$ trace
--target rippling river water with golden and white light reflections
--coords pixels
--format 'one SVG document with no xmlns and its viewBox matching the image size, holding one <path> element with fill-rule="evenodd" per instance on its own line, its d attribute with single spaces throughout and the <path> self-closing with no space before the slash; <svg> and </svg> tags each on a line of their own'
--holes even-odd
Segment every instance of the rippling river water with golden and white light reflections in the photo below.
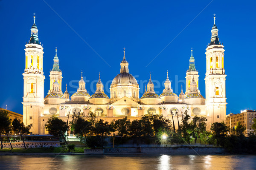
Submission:
<svg viewBox="0 0 256 170">
<path fill-rule="evenodd" d="M 0 170 L 251 170 L 256 156 L 61 155 L 0 156 Z"/>
</svg>

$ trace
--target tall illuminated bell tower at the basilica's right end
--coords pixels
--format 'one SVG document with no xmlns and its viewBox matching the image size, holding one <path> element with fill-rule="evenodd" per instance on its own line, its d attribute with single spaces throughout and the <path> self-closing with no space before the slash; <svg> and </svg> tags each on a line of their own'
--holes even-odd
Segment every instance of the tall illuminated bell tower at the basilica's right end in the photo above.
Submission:
<svg viewBox="0 0 256 170">
<path fill-rule="evenodd" d="M 211 42 L 206 48 L 206 114 L 210 124 L 226 121 L 226 74 L 224 69 L 224 46 L 218 38 L 218 28 L 212 27 Z"/>
</svg>

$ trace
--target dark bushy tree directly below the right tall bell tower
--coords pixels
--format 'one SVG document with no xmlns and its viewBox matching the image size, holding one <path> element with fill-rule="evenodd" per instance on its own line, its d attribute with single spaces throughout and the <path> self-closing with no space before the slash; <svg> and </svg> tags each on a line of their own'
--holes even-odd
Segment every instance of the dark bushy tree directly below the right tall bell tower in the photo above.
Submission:
<svg viewBox="0 0 256 170">
<path fill-rule="evenodd" d="M 216 144 L 224 144 L 224 138 L 227 136 L 227 132 L 230 128 L 224 122 L 215 122 L 212 124 L 211 130 L 213 131 L 212 135 L 217 140 Z"/>
</svg>

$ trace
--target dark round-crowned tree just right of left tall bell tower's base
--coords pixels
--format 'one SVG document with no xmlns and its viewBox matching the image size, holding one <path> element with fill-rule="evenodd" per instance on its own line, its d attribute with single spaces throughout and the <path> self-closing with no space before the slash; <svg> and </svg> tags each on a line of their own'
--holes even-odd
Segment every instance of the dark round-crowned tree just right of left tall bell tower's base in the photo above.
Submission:
<svg viewBox="0 0 256 170">
<path fill-rule="evenodd" d="M 63 137 L 65 143 L 67 144 L 64 134 L 67 130 L 69 130 L 69 126 L 67 126 L 66 122 L 53 115 L 46 122 L 45 128 L 49 132 L 49 134 L 55 137 Z"/>
</svg>

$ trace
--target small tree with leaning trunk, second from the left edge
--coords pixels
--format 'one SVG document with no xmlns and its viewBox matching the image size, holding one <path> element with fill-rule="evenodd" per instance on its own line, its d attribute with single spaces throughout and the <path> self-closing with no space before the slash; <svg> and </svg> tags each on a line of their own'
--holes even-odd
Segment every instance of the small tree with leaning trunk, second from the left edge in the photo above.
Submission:
<svg viewBox="0 0 256 170">
<path fill-rule="evenodd" d="M 13 127 L 13 131 L 20 135 L 20 138 L 22 139 L 24 147 L 26 149 L 26 144 L 24 142 L 24 138 L 22 135 L 27 135 L 30 133 L 30 128 L 31 128 L 30 125 L 25 126 L 23 122 L 20 122 L 20 119 L 15 118 L 12 121 L 12 127 Z"/>
</svg>

